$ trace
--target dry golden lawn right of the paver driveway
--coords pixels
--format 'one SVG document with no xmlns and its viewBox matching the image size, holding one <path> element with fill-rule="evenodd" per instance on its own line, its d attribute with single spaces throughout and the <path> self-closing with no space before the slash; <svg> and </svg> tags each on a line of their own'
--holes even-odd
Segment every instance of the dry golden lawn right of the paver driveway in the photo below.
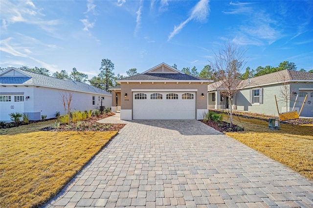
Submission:
<svg viewBox="0 0 313 208">
<path fill-rule="evenodd" d="M 313 180 L 313 124 L 280 124 L 280 130 L 270 130 L 267 121 L 239 119 L 233 117 L 233 123 L 245 132 L 226 132 L 228 136 Z"/>
</svg>

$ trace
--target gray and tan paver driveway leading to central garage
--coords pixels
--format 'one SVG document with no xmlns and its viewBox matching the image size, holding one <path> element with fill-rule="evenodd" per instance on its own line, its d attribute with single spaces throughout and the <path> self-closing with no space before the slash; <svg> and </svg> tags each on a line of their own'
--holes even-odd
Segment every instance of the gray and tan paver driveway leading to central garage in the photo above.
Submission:
<svg viewBox="0 0 313 208">
<path fill-rule="evenodd" d="M 201 122 L 102 122 L 127 125 L 45 207 L 313 207 L 311 181 Z"/>
</svg>

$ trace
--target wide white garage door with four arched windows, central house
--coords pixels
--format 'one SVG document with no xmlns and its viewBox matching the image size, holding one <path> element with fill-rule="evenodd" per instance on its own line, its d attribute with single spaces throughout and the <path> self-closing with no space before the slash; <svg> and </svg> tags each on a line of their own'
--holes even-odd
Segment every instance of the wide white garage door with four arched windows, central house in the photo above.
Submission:
<svg viewBox="0 0 313 208">
<path fill-rule="evenodd" d="M 195 118 L 195 92 L 133 92 L 133 119 Z"/>
</svg>

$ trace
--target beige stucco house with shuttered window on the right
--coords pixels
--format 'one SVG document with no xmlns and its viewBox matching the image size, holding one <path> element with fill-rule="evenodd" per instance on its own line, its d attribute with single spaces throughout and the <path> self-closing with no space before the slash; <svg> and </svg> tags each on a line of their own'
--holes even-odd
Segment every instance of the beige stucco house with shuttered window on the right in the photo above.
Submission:
<svg viewBox="0 0 313 208">
<path fill-rule="evenodd" d="M 278 116 L 275 95 L 280 113 L 292 110 L 296 95 L 298 99 L 294 110 L 299 112 L 305 96 L 308 95 L 301 116 L 313 116 L 313 73 L 282 70 L 243 82 L 246 82 L 245 87 L 232 98 L 233 109 Z M 286 94 L 291 97 L 287 106 L 286 96 L 282 94 L 286 89 Z M 208 85 L 208 108 L 228 108 L 227 100 L 227 97 L 220 95 L 216 84 Z"/>
</svg>

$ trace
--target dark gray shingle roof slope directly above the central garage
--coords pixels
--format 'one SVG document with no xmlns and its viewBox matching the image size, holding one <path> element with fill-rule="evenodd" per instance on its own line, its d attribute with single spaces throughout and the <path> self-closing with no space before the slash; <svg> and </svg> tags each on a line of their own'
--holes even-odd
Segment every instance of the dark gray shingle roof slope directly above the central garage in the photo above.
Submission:
<svg viewBox="0 0 313 208">
<path fill-rule="evenodd" d="M 144 80 L 194 80 L 194 81 L 205 81 L 206 79 L 203 79 L 201 77 L 196 77 L 188 74 L 179 74 L 179 73 L 147 73 L 147 74 L 138 74 L 131 77 L 126 77 L 124 79 L 119 80 L 122 81 L 144 81 Z"/>
</svg>

